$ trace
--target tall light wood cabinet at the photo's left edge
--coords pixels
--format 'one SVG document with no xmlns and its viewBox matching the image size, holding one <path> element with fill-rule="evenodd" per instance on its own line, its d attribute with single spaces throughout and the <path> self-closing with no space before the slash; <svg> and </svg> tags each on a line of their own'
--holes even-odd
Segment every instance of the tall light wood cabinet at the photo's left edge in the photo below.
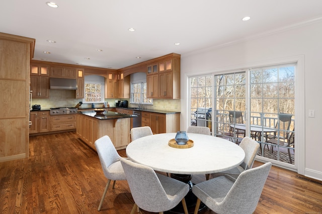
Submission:
<svg viewBox="0 0 322 214">
<path fill-rule="evenodd" d="M 29 73 L 35 40 L 0 33 L 0 162 L 29 156 Z"/>
</svg>

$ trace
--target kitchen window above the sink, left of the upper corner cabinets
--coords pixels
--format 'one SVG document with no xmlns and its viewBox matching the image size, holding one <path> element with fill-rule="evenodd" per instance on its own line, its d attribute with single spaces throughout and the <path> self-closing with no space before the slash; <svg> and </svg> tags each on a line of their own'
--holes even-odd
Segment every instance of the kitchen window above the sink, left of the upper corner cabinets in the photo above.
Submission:
<svg viewBox="0 0 322 214">
<path fill-rule="evenodd" d="M 146 82 L 131 82 L 131 103 L 153 104 L 153 99 L 146 98 Z"/>
</svg>

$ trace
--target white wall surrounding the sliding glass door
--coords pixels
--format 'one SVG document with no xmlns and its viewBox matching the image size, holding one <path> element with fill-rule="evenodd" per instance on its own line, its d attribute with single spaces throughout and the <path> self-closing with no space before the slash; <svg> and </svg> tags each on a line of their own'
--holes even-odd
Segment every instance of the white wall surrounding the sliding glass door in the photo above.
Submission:
<svg viewBox="0 0 322 214">
<path fill-rule="evenodd" d="M 278 61 L 285 58 L 301 58 L 304 78 L 302 88 L 303 111 L 299 112 L 302 142 L 298 172 L 322 180 L 322 22 L 310 23 L 296 28 L 271 33 L 252 40 L 221 48 L 207 49 L 181 55 L 181 106 L 188 106 L 187 76 L 215 71 L 243 68 L 249 65 Z M 200 38 L 202 39 L 202 38 Z M 300 81 L 301 81 L 300 80 Z M 315 117 L 308 118 L 308 110 L 315 110 Z M 299 117 L 300 118 L 300 117 Z M 181 129 L 189 124 L 188 107 L 181 109 Z M 299 149 L 299 148 L 298 148 Z M 304 151 L 303 151 L 304 150 Z"/>
</svg>

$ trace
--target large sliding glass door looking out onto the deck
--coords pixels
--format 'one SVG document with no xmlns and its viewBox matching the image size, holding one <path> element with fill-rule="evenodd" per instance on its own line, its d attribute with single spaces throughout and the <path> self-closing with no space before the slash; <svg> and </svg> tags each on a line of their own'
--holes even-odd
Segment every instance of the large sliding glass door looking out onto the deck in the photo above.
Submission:
<svg viewBox="0 0 322 214">
<path fill-rule="evenodd" d="M 294 165 L 296 64 L 190 77 L 191 126 L 236 144 L 249 136 L 258 155 Z"/>
</svg>

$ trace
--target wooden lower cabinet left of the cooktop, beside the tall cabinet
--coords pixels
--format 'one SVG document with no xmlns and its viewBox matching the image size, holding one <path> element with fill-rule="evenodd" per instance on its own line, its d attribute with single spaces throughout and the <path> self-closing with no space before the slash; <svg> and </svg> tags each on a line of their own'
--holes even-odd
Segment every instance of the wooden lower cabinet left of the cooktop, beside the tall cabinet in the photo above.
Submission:
<svg viewBox="0 0 322 214">
<path fill-rule="evenodd" d="M 49 132 L 49 111 L 30 112 L 29 134 Z"/>
</svg>

